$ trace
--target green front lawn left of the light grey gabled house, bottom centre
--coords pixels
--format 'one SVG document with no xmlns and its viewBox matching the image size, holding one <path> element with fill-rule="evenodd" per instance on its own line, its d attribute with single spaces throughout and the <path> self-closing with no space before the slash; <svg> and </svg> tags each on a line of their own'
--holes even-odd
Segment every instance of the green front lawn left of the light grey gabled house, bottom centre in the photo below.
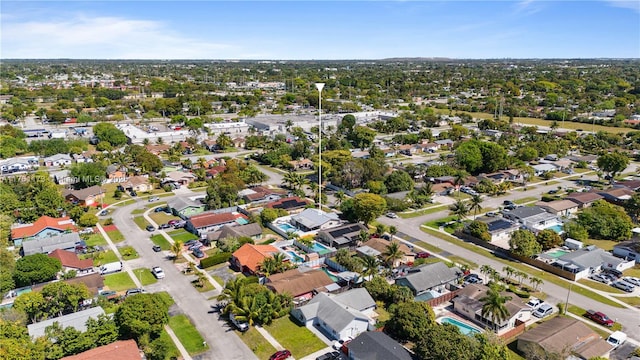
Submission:
<svg viewBox="0 0 640 360">
<path fill-rule="evenodd" d="M 264 327 L 296 359 L 314 353 L 327 345 L 309 329 L 292 321 L 289 316 L 276 319 Z"/>
</svg>

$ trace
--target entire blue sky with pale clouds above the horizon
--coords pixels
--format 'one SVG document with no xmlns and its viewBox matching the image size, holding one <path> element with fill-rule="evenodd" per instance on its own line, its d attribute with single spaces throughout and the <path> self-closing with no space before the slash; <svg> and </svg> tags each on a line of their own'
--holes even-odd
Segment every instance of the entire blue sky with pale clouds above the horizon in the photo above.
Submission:
<svg viewBox="0 0 640 360">
<path fill-rule="evenodd" d="M 640 0 L 6 1 L 0 59 L 640 58 Z"/>
</svg>

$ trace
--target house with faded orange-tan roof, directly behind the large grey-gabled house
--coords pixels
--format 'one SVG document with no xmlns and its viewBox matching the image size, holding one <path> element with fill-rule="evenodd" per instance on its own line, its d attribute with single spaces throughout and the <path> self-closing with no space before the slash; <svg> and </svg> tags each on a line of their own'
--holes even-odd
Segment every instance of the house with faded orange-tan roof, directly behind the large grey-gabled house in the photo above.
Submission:
<svg viewBox="0 0 640 360">
<path fill-rule="evenodd" d="M 265 286 L 277 294 L 289 294 L 294 301 L 300 301 L 309 300 L 315 294 L 334 289 L 337 285 L 321 269 L 299 267 L 269 276 Z"/>
</svg>

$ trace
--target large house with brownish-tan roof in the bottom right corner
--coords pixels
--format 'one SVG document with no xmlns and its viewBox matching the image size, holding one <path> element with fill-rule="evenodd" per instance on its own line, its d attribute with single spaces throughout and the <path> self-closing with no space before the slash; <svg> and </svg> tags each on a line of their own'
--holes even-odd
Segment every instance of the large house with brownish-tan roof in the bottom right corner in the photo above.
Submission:
<svg viewBox="0 0 640 360">
<path fill-rule="evenodd" d="M 609 358 L 612 346 L 582 321 L 554 317 L 518 337 L 517 348 L 527 358 Z"/>
</svg>

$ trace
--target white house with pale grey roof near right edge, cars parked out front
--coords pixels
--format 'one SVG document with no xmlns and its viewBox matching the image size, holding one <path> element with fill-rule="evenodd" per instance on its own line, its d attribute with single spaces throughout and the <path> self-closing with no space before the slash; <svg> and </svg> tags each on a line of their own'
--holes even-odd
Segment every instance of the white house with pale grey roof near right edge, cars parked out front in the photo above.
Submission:
<svg viewBox="0 0 640 360">
<path fill-rule="evenodd" d="M 595 245 L 566 253 L 552 263 L 553 266 L 576 274 L 576 279 L 586 278 L 602 269 L 623 271 L 633 267 L 635 261 L 615 257 Z"/>
</svg>

